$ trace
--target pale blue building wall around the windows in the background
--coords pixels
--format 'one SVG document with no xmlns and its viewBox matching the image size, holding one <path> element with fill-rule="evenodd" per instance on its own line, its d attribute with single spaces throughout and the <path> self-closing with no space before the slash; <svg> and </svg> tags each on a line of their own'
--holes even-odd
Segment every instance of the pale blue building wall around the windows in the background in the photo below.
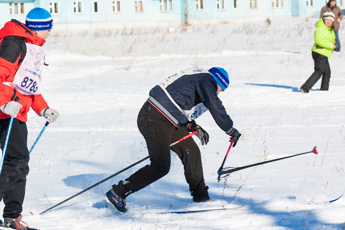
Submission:
<svg viewBox="0 0 345 230">
<path fill-rule="evenodd" d="M 185 0 L 172 0 L 172 11 L 160 11 L 159 0 L 142 0 L 143 12 L 135 11 L 135 0 L 121 0 L 121 11 L 112 11 L 112 1 L 98 0 L 98 12 L 93 12 L 94 0 L 81 0 L 82 13 L 73 12 L 71 0 L 55 0 L 59 2 L 59 13 L 52 14 L 55 24 L 71 23 L 123 23 L 131 22 L 133 25 L 144 25 L 152 22 L 174 21 L 183 24 L 185 20 Z M 284 0 L 284 6 L 273 8 L 271 0 L 256 0 L 257 8 L 251 9 L 249 0 L 224 0 L 225 9 L 217 9 L 217 0 L 204 0 L 204 9 L 196 9 L 196 0 L 186 0 L 188 22 L 213 20 L 215 23 L 254 18 L 272 18 L 288 16 L 316 16 L 325 5 L 325 0 L 313 0 L 313 6 L 306 6 L 306 0 Z M 345 1 L 345 0 L 343 0 Z M 0 25 L 14 19 L 22 19 L 34 7 L 42 7 L 49 11 L 51 0 L 0 0 Z M 9 3 L 24 3 L 24 14 L 10 15 Z M 340 3 L 340 0 L 337 1 Z M 339 4 L 338 4 L 339 5 Z M 344 9 L 343 6 L 339 6 Z"/>
</svg>

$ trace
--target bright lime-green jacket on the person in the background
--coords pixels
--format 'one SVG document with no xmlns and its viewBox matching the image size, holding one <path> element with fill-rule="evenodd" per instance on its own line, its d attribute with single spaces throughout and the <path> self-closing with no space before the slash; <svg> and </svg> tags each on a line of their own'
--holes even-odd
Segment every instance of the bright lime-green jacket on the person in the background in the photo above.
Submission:
<svg viewBox="0 0 345 230">
<path fill-rule="evenodd" d="M 335 44 L 335 34 L 331 27 L 326 26 L 322 18 L 315 24 L 315 43 L 312 51 L 330 58 Z"/>
</svg>

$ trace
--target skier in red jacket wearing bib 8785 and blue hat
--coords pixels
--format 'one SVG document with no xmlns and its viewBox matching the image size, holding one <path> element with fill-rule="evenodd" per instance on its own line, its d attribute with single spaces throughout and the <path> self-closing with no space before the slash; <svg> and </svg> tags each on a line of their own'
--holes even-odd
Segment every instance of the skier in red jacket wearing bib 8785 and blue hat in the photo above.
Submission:
<svg viewBox="0 0 345 230">
<path fill-rule="evenodd" d="M 38 116 L 54 122 L 59 117 L 40 94 L 39 79 L 45 66 L 42 48 L 50 35 L 53 19 L 42 8 L 32 9 L 25 24 L 12 19 L 0 29 L 0 146 L 4 147 L 10 118 L 12 128 L 0 174 L 0 201 L 4 221 L 0 226 L 18 230 L 35 230 L 21 219 L 26 176 L 29 173 L 27 147 L 27 112 L 30 107 Z"/>
</svg>

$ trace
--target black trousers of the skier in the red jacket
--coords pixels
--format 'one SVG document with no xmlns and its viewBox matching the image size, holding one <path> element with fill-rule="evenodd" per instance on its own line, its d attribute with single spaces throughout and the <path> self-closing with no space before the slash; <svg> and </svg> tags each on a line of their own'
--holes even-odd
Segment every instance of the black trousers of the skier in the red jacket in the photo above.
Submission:
<svg viewBox="0 0 345 230">
<path fill-rule="evenodd" d="M 10 118 L 0 119 L 0 146 L 4 147 Z M 25 196 L 26 176 L 29 173 L 28 129 L 25 122 L 13 119 L 0 175 L 0 201 L 5 208 L 3 217 L 16 219 L 20 216 Z"/>
</svg>

